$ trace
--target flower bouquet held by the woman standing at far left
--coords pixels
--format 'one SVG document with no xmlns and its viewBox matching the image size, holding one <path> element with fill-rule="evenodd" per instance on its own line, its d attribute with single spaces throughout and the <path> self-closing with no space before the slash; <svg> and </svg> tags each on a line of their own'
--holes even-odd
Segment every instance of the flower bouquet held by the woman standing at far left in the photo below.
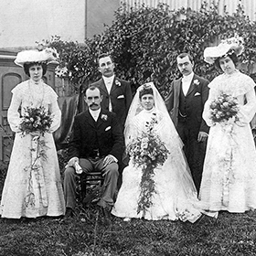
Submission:
<svg viewBox="0 0 256 256">
<path fill-rule="evenodd" d="M 51 115 L 41 106 L 38 108 L 26 107 L 19 125 L 23 135 L 28 133 L 47 133 L 52 123 Z"/>
</svg>

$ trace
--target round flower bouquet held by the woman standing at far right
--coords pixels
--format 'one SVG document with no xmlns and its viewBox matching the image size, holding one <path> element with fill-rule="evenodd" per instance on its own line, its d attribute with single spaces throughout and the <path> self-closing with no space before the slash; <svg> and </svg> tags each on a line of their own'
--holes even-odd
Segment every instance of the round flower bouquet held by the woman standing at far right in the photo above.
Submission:
<svg viewBox="0 0 256 256">
<path fill-rule="evenodd" d="M 221 92 L 219 97 L 212 101 L 210 119 L 214 123 L 227 123 L 230 119 L 238 120 L 239 104 L 237 98 Z"/>
</svg>

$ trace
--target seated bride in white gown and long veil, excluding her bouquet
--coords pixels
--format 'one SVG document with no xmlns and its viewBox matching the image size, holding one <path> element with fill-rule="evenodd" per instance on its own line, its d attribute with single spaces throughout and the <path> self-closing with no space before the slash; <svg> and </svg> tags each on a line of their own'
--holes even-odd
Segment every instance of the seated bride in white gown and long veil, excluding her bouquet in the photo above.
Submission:
<svg viewBox="0 0 256 256">
<path fill-rule="evenodd" d="M 201 215 L 194 207 L 197 202 L 197 189 L 193 183 L 187 161 L 182 151 L 182 142 L 176 133 L 160 93 L 155 85 L 147 83 L 136 92 L 125 123 L 125 144 L 147 133 L 148 124 L 155 120 L 155 134 L 165 143 L 169 151 L 164 165 L 154 169 L 155 192 L 151 194 L 150 204 L 139 210 L 142 192 L 142 166 L 129 165 L 123 170 L 123 184 L 112 208 L 112 214 L 130 220 L 144 219 L 181 219 L 195 222 Z"/>
</svg>

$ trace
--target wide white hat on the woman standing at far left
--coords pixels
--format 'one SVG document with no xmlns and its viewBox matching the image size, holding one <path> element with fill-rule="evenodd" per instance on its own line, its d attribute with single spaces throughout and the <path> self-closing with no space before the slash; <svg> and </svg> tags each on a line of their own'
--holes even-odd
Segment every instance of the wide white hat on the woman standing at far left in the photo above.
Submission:
<svg viewBox="0 0 256 256">
<path fill-rule="evenodd" d="M 43 50 L 29 49 L 23 50 L 16 55 L 15 63 L 23 67 L 25 63 L 57 61 L 59 54 L 55 48 L 45 48 Z"/>
</svg>

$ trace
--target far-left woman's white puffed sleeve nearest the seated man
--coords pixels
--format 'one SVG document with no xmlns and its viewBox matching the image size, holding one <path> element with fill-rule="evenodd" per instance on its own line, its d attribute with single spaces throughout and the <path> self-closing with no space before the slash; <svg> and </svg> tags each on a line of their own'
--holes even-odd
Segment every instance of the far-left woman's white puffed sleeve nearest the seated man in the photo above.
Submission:
<svg viewBox="0 0 256 256">
<path fill-rule="evenodd" d="M 50 92 L 50 106 L 49 106 L 49 109 L 50 109 L 53 121 L 52 121 L 51 127 L 49 129 L 50 133 L 55 132 L 59 128 L 59 125 L 60 125 L 60 122 L 61 122 L 61 111 L 59 109 L 59 104 L 58 104 L 57 99 L 58 99 L 57 93 L 52 90 Z"/>
</svg>

